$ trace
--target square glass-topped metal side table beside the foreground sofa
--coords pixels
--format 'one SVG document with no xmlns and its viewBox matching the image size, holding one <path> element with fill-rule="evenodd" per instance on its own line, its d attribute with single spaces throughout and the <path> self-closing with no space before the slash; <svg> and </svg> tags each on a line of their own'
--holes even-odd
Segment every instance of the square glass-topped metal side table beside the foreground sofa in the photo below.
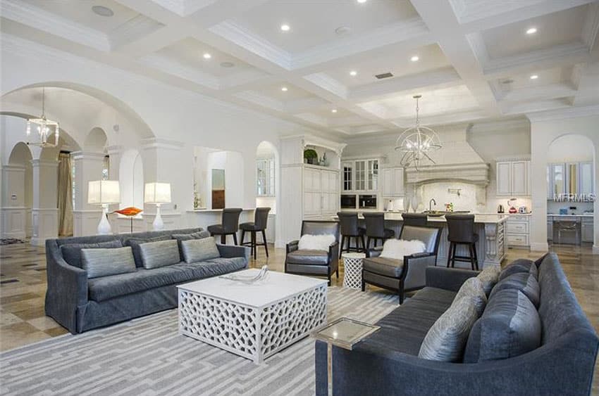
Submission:
<svg viewBox="0 0 599 396">
<path fill-rule="evenodd" d="M 316 340 L 324 341 L 326 347 L 326 366 L 328 395 L 333 395 L 333 345 L 352 350 L 352 347 L 381 328 L 349 318 L 341 318 L 328 324 L 313 334 Z"/>
</svg>

